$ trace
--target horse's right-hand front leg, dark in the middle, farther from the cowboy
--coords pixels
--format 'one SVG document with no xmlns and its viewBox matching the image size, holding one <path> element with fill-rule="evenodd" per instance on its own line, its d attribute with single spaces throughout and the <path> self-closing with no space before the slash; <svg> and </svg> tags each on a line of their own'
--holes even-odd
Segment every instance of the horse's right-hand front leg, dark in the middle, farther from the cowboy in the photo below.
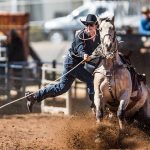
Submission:
<svg viewBox="0 0 150 150">
<path fill-rule="evenodd" d="M 126 109 L 127 105 L 129 104 L 130 92 L 128 90 L 123 91 L 119 100 L 120 100 L 120 104 L 119 104 L 118 111 L 117 111 L 117 117 L 119 119 L 120 129 L 123 129 L 123 121 L 125 118 L 125 109 Z"/>
</svg>

